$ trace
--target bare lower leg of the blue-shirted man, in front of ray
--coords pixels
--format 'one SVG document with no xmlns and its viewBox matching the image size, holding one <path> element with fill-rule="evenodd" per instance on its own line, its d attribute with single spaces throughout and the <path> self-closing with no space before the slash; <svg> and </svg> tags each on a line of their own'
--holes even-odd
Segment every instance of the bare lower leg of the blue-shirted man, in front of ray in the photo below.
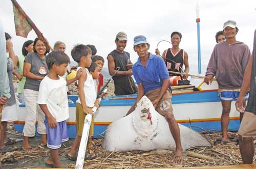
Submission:
<svg viewBox="0 0 256 169">
<path fill-rule="evenodd" d="M 164 118 L 169 125 L 170 133 L 172 133 L 172 135 L 174 137 L 175 144 L 176 144 L 175 158 L 172 161 L 173 162 L 181 162 L 183 149 L 182 149 L 181 141 L 180 141 L 180 128 L 174 118 L 174 115 L 166 114 L 164 116 Z"/>
</svg>

